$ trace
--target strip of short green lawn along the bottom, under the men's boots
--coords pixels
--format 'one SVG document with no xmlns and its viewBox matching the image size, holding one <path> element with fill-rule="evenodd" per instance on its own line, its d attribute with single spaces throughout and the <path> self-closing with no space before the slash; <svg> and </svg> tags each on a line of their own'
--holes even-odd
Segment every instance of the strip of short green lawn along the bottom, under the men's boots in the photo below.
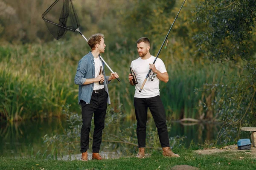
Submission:
<svg viewBox="0 0 256 170">
<path fill-rule="evenodd" d="M 42 160 L 33 158 L 0 157 L 0 169 L 22 170 L 169 170 L 175 165 L 190 165 L 203 170 L 252 170 L 256 168 L 255 158 L 246 153 L 215 153 L 201 155 L 192 150 L 175 150 L 180 158 L 166 158 L 155 152 L 144 159 L 134 156 L 88 162 Z"/>
</svg>

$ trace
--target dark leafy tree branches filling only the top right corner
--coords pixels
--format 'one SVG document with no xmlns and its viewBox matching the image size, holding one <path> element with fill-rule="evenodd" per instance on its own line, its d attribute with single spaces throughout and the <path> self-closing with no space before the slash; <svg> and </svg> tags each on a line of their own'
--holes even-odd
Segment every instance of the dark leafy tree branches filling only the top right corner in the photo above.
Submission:
<svg viewBox="0 0 256 170">
<path fill-rule="evenodd" d="M 202 29 L 194 36 L 198 51 L 212 60 L 252 57 L 255 45 L 255 0 L 204 0 L 194 22 Z M 255 34 L 254 34 L 255 35 Z"/>
</svg>

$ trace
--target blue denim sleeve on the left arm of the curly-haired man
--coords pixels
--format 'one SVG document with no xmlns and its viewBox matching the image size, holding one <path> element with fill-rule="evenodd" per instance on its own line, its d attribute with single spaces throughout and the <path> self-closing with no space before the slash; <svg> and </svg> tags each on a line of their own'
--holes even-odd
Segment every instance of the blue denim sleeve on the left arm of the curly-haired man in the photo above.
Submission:
<svg viewBox="0 0 256 170">
<path fill-rule="evenodd" d="M 75 84 L 76 85 L 83 85 L 86 81 L 86 78 L 84 78 L 84 75 L 87 72 L 87 64 L 84 61 L 84 59 L 81 59 L 78 63 L 78 67 L 76 70 L 76 76 L 75 76 Z"/>
</svg>

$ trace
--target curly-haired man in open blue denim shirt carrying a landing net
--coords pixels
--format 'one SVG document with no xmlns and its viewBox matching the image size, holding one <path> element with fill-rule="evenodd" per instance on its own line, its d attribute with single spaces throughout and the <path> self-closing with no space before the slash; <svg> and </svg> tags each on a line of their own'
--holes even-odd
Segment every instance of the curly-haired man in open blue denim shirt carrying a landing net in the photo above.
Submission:
<svg viewBox="0 0 256 170">
<path fill-rule="evenodd" d="M 75 77 L 75 84 L 79 85 L 78 103 L 82 108 L 83 125 L 81 128 L 81 160 L 87 161 L 89 148 L 89 133 L 91 120 L 94 113 L 93 132 L 93 156 L 92 159 L 102 160 L 99 155 L 100 144 L 102 143 L 102 130 L 105 127 L 105 116 L 107 102 L 110 104 L 108 94 L 108 84 L 112 79 L 118 78 L 117 73 L 105 76 L 100 73 L 100 68 L 104 68 L 104 62 L 99 58 L 100 53 L 105 51 L 104 35 L 93 34 L 88 39 L 88 45 L 92 49 L 87 55 L 80 59 Z M 99 83 L 99 82 L 103 82 Z"/>
</svg>

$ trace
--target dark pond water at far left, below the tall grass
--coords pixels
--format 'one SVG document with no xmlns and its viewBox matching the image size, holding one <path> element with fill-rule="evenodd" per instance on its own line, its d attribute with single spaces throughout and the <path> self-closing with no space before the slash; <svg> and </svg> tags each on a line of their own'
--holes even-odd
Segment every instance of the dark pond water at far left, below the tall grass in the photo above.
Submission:
<svg viewBox="0 0 256 170">
<path fill-rule="evenodd" d="M 38 150 L 44 153 L 42 136 L 61 133 L 66 125 L 59 119 L 0 123 L 0 155 L 29 156 Z"/>
</svg>

